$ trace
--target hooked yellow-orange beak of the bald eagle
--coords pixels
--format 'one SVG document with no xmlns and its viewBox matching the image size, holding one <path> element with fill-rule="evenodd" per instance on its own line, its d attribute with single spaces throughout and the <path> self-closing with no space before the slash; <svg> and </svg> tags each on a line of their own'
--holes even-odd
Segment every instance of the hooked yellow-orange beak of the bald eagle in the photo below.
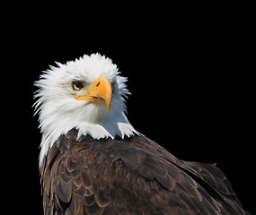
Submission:
<svg viewBox="0 0 256 215">
<path fill-rule="evenodd" d="M 91 104 L 98 100 L 105 100 L 108 112 L 110 111 L 110 105 L 112 100 L 112 88 L 108 79 L 105 77 L 99 77 L 93 83 L 93 92 L 84 96 L 76 97 L 75 100 L 90 99 L 88 104 Z"/>
</svg>

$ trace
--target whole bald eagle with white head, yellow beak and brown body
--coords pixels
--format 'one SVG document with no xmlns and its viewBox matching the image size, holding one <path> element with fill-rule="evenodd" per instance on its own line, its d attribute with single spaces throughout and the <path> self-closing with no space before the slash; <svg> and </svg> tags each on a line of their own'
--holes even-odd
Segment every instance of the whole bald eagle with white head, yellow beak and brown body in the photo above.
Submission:
<svg viewBox="0 0 256 215">
<path fill-rule="evenodd" d="M 45 214 L 248 214 L 215 164 L 177 159 L 130 125 L 110 58 L 56 64 L 35 82 Z"/>
</svg>

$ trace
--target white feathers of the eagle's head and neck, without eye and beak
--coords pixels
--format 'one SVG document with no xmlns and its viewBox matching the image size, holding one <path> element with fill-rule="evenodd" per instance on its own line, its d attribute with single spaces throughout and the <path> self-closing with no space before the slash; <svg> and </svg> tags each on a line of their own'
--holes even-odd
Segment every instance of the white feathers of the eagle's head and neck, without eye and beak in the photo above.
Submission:
<svg viewBox="0 0 256 215">
<path fill-rule="evenodd" d="M 40 75 L 40 81 L 35 82 L 40 88 L 34 104 L 36 114 L 40 114 L 42 133 L 40 165 L 57 138 L 74 127 L 79 131 L 77 138 L 82 134 L 90 134 L 95 139 L 115 138 L 116 135 L 123 138 L 137 133 L 125 116 L 124 97 L 130 94 L 126 88 L 127 78 L 119 76 L 117 65 L 112 64 L 110 58 L 100 54 L 84 55 L 66 64 L 57 63 L 57 66 L 50 66 L 50 70 Z M 102 102 L 76 100 L 78 92 L 70 87 L 74 81 L 89 84 L 101 76 L 107 78 L 112 87 L 109 113 Z"/>
</svg>

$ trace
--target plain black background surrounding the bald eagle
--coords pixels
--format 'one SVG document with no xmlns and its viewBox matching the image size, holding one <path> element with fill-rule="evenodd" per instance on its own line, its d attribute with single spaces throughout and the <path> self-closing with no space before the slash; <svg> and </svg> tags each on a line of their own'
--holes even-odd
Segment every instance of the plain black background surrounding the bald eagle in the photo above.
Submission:
<svg viewBox="0 0 256 215">
<path fill-rule="evenodd" d="M 137 131 L 179 159 L 216 162 L 256 212 L 250 13 L 140 16 L 138 9 L 126 19 L 72 20 L 65 12 L 54 16 L 49 7 L 4 22 L 0 213 L 42 213 L 33 82 L 55 61 L 96 52 L 128 77 L 128 119 Z"/>
</svg>

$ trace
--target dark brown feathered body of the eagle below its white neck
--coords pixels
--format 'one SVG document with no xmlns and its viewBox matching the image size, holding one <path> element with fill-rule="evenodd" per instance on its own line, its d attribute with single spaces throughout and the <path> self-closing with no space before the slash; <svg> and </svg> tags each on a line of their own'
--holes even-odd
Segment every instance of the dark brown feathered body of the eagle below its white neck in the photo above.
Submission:
<svg viewBox="0 0 256 215">
<path fill-rule="evenodd" d="M 177 159 L 143 135 L 76 138 L 61 135 L 43 160 L 45 214 L 248 214 L 215 164 Z"/>
</svg>

